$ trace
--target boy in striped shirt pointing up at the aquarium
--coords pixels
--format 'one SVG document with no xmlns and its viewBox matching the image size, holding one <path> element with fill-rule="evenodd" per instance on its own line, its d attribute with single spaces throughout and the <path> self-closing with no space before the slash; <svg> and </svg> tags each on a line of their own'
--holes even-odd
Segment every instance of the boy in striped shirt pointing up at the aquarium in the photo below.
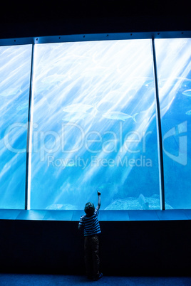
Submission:
<svg viewBox="0 0 191 286">
<path fill-rule="evenodd" d="M 99 280 L 103 274 L 99 272 L 100 259 L 98 255 L 100 223 L 98 213 L 100 209 L 100 192 L 98 191 L 98 206 L 95 210 L 93 203 L 86 203 L 84 211 L 86 215 L 81 216 L 78 229 L 84 234 L 84 253 L 86 272 L 89 279 Z"/>
</svg>

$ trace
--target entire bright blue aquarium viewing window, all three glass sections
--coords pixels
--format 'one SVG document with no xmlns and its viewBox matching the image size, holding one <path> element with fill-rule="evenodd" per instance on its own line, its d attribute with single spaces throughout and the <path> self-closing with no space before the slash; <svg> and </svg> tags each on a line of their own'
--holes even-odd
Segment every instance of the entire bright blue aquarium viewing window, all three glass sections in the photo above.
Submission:
<svg viewBox="0 0 191 286">
<path fill-rule="evenodd" d="M 0 47 L 0 208 L 191 208 L 191 39 Z"/>
</svg>

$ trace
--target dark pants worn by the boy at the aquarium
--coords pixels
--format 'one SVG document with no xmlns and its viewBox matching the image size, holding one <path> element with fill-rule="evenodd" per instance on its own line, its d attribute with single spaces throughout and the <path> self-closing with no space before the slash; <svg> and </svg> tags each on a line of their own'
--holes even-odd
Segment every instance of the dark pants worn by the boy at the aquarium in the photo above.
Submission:
<svg viewBox="0 0 191 286">
<path fill-rule="evenodd" d="M 84 252 L 86 274 L 88 277 L 96 277 L 99 275 L 99 239 L 98 235 L 85 236 L 84 239 Z"/>
</svg>

